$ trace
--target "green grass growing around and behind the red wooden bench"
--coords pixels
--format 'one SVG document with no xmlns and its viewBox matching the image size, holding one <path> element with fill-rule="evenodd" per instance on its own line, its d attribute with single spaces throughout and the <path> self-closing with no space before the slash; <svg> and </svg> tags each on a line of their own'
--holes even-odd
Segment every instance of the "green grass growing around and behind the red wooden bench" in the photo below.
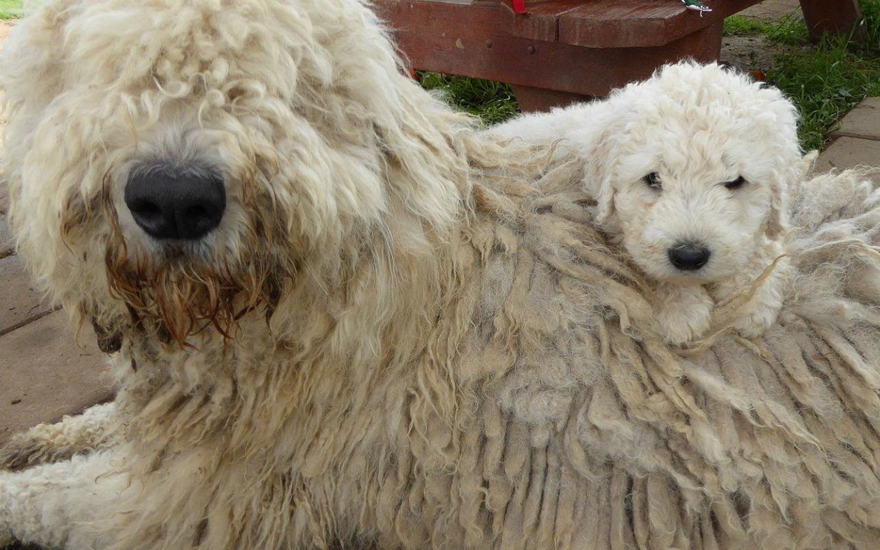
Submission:
<svg viewBox="0 0 880 550">
<path fill-rule="evenodd" d="M 863 26 L 868 40 L 856 44 L 846 38 L 826 37 L 815 48 L 797 12 L 776 23 L 733 16 L 724 21 L 729 36 L 763 36 L 773 44 L 790 46 L 767 71 L 802 114 L 799 128 L 805 150 L 822 149 L 825 134 L 862 99 L 880 96 L 880 0 L 862 0 Z M 446 99 L 488 123 L 504 121 L 519 108 L 505 84 L 422 73 L 422 85 L 439 90 Z"/>
</svg>

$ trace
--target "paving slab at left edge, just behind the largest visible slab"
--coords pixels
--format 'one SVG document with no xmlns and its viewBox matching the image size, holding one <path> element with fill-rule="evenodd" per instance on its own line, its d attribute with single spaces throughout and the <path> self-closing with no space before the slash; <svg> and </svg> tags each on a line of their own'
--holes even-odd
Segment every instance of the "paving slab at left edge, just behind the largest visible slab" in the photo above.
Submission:
<svg viewBox="0 0 880 550">
<path fill-rule="evenodd" d="M 42 293 L 34 288 L 21 256 L 0 260 L 0 281 L 0 334 L 50 311 Z"/>
</svg>

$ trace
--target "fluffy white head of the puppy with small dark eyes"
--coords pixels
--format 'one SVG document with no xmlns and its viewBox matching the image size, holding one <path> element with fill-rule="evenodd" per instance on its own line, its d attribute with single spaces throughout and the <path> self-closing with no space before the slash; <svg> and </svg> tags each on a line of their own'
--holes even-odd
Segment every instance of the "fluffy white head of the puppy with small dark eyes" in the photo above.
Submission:
<svg viewBox="0 0 880 550">
<path fill-rule="evenodd" d="M 686 62 L 609 106 L 587 186 L 598 222 L 648 275 L 715 282 L 781 238 L 787 187 L 802 168 L 796 109 L 779 91 Z"/>
</svg>

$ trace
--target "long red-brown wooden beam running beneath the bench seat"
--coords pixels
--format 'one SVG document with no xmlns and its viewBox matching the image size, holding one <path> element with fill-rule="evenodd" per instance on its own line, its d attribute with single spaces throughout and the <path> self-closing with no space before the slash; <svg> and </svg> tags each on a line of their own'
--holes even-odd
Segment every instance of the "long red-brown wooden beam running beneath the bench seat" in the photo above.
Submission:
<svg viewBox="0 0 880 550">
<path fill-rule="evenodd" d="M 497 3 L 470 5 L 465 12 L 460 5 L 416 0 L 375 5 L 417 69 L 583 95 L 605 95 L 649 77 L 665 62 L 714 60 L 721 48 L 720 25 L 663 48 L 598 49 L 513 36 Z"/>
</svg>

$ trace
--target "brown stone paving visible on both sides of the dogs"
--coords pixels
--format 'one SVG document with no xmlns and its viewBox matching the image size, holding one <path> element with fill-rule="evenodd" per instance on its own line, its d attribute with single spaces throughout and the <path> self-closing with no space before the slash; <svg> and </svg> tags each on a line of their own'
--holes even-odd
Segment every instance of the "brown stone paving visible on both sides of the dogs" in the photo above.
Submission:
<svg viewBox="0 0 880 550">
<path fill-rule="evenodd" d="M 777 17 L 796 0 L 768 0 L 761 7 Z M 775 11 L 774 11 L 775 10 Z M 0 25 L 0 37 L 6 29 Z M 832 145 L 817 170 L 880 165 L 880 98 L 866 99 L 832 133 Z M 13 252 L 6 227 L 7 191 L 0 184 L 0 444 L 12 433 L 62 414 L 77 414 L 112 392 L 102 377 L 105 359 L 91 326 L 79 345 L 63 312 L 54 312 L 33 290 L 21 258 Z"/>
</svg>

